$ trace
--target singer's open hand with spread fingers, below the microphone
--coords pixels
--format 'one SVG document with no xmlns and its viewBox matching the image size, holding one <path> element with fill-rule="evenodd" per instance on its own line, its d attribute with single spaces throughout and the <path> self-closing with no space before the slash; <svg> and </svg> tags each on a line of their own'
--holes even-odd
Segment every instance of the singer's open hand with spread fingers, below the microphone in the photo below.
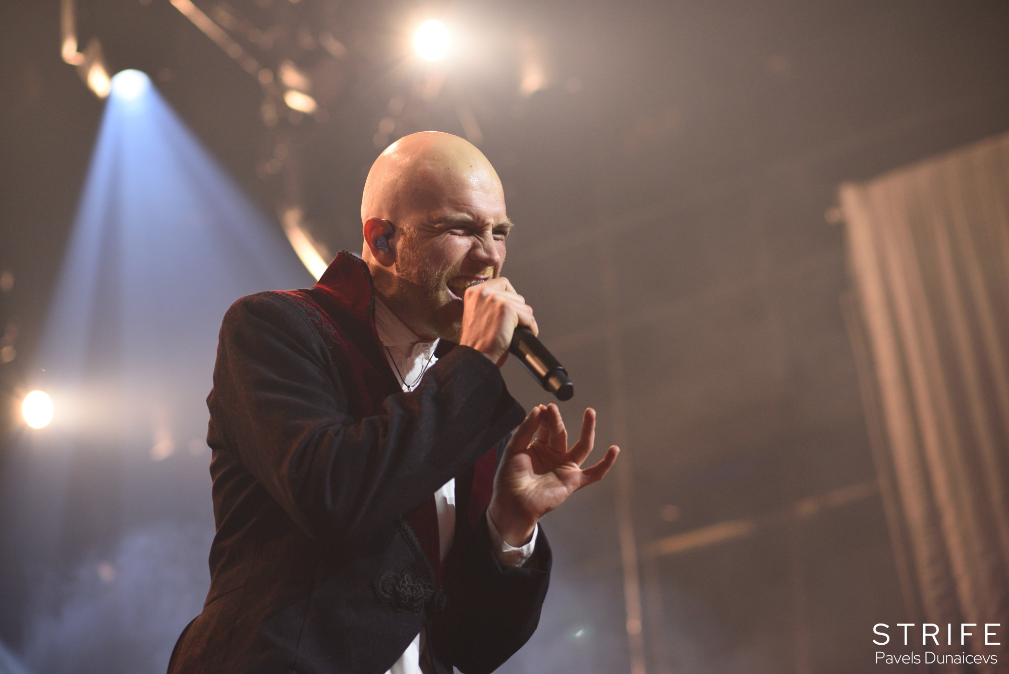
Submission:
<svg viewBox="0 0 1009 674">
<path fill-rule="evenodd" d="M 507 543 L 525 545 L 540 518 L 581 487 L 602 479 L 621 450 L 610 447 L 598 463 L 582 470 L 594 443 L 595 411 L 591 408 L 585 410 L 578 441 L 570 450 L 556 405 L 541 405 L 529 413 L 504 449 L 488 509 Z"/>
</svg>

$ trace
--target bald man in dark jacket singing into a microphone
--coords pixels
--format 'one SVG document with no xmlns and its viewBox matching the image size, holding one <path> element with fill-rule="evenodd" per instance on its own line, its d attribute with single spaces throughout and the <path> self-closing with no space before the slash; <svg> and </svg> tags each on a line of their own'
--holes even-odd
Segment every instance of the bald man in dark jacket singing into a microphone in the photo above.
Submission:
<svg viewBox="0 0 1009 674">
<path fill-rule="evenodd" d="M 211 586 L 176 673 L 491 672 L 533 634 L 539 526 L 590 468 L 555 405 L 499 367 L 533 310 L 500 275 L 513 224 L 486 157 L 406 136 L 371 166 L 361 256 L 311 289 L 241 298 L 207 399 Z"/>
</svg>

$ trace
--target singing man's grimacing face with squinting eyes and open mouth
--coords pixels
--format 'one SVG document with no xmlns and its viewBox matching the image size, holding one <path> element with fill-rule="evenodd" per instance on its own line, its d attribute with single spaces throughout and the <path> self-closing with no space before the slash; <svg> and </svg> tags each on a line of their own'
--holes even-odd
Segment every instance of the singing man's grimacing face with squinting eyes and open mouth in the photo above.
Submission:
<svg viewBox="0 0 1009 674">
<path fill-rule="evenodd" d="M 458 341 L 465 289 L 500 275 L 512 222 L 496 177 L 452 183 L 396 223 L 397 295 L 425 332 Z"/>
</svg>

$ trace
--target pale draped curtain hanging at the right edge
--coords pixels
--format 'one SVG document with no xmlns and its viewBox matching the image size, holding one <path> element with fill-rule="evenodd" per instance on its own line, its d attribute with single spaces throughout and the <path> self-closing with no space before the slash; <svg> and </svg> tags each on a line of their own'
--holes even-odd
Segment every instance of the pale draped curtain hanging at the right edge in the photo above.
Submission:
<svg viewBox="0 0 1009 674">
<path fill-rule="evenodd" d="M 998 654 L 998 665 L 962 671 L 1004 672 L 1009 134 L 844 185 L 840 206 L 869 416 L 880 420 L 881 481 L 912 614 L 940 626 L 935 653 Z M 979 625 L 963 648 L 961 623 Z M 1001 624 L 1001 646 L 984 646 L 986 623 Z M 920 626 L 915 633 L 921 649 Z"/>
</svg>

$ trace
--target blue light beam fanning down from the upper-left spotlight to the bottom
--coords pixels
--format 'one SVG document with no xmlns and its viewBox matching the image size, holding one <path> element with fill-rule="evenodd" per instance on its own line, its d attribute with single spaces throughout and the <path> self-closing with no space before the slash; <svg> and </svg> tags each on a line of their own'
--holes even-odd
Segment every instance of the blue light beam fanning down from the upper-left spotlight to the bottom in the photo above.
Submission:
<svg viewBox="0 0 1009 674">
<path fill-rule="evenodd" d="M 213 528 L 205 399 L 221 318 L 240 296 L 313 283 L 147 76 L 111 87 L 26 382 L 55 414 L 6 457 L 0 492 L 0 590 L 23 598 L 36 671 L 163 671 L 206 591 L 191 585 L 209 581 L 206 538 L 187 532 Z M 166 549 L 165 527 L 202 542 Z M 191 591 L 152 582 L 191 577 Z"/>
</svg>

